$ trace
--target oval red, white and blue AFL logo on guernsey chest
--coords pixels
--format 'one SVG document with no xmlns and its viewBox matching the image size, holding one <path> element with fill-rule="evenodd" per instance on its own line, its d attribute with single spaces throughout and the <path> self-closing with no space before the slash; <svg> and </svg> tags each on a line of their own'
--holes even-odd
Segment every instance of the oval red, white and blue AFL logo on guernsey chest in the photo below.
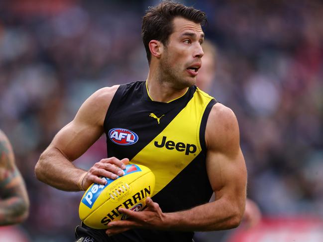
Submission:
<svg viewBox="0 0 323 242">
<path fill-rule="evenodd" d="M 110 140 L 121 146 L 133 145 L 138 141 L 138 135 L 128 129 L 114 128 L 109 131 Z"/>
</svg>

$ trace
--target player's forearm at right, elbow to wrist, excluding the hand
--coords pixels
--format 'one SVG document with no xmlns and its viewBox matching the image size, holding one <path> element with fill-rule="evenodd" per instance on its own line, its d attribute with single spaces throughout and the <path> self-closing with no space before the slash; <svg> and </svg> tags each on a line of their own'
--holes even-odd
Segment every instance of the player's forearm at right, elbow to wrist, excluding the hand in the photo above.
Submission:
<svg viewBox="0 0 323 242">
<path fill-rule="evenodd" d="M 219 199 L 189 210 L 165 213 L 167 230 L 216 231 L 236 228 L 242 219 L 243 205 Z"/>
</svg>

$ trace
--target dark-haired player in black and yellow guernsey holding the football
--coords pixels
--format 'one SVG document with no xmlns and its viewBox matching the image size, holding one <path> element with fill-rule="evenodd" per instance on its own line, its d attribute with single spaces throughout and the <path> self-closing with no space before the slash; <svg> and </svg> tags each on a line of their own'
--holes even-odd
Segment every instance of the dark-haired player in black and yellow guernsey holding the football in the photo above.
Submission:
<svg viewBox="0 0 323 242">
<path fill-rule="evenodd" d="M 129 161 L 148 166 L 156 184 L 140 212 L 95 230 L 82 223 L 77 241 L 192 242 L 194 231 L 237 227 L 246 199 L 246 167 L 233 112 L 194 84 L 201 67 L 206 14 L 163 1 L 143 17 L 146 81 L 106 87 L 90 96 L 40 156 L 38 179 L 77 191 L 115 179 Z M 71 161 L 101 135 L 108 158 L 88 171 Z M 215 201 L 208 203 L 215 192 Z"/>
</svg>

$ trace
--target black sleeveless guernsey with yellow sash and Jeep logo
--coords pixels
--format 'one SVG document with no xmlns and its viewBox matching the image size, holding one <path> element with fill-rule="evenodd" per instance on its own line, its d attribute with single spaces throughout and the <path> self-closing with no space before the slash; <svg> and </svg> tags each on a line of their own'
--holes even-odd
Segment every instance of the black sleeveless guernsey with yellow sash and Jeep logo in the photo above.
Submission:
<svg viewBox="0 0 323 242">
<path fill-rule="evenodd" d="M 153 101 L 145 81 L 122 84 L 108 108 L 108 157 L 128 158 L 156 177 L 152 195 L 163 212 L 207 203 L 213 193 L 206 170 L 206 123 L 215 99 L 196 86 L 168 103 Z M 130 230 L 116 242 L 192 242 L 192 232 Z"/>
</svg>

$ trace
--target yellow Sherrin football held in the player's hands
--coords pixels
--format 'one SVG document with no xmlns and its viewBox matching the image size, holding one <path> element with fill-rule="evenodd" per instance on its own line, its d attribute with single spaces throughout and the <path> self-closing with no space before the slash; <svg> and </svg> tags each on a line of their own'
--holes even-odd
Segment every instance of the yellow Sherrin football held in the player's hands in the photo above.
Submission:
<svg viewBox="0 0 323 242">
<path fill-rule="evenodd" d="M 84 193 L 79 207 L 80 219 L 94 229 L 106 229 L 109 222 L 126 217 L 118 208 L 140 211 L 152 196 L 155 175 L 144 165 L 127 164 L 124 175 L 107 180 L 106 185 L 93 183 Z"/>
</svg>

